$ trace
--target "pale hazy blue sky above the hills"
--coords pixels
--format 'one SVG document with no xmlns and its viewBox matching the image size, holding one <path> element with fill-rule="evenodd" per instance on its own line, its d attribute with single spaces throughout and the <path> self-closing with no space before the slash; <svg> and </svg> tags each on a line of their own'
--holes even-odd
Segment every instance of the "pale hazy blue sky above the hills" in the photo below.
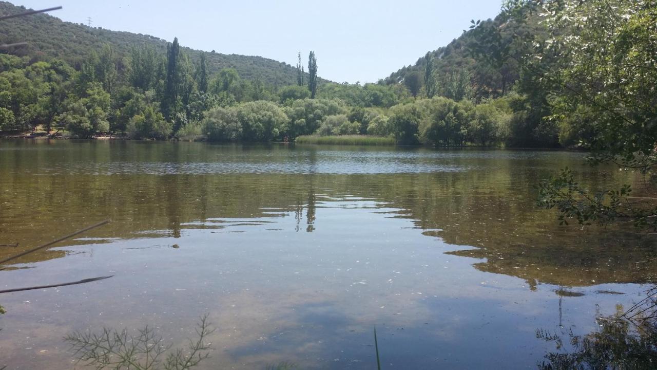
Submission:
<svg viewBox="0 0 657 370">
<path fill-rule="evenodd" d="M 315 51 L 319 75 L 376 82 L 447 45 L 470 19 L 493 18 L 501 0 L 14 0 L 63 20 L 149 34 L 218 53 L 260 55 L 296 65 Z"/>
</svg>

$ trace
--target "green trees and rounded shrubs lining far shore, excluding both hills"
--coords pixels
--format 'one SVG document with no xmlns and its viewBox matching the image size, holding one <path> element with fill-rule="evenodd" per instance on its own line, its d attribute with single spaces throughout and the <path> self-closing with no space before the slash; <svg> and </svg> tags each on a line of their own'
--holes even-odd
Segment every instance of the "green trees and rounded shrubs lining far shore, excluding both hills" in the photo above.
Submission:
<svg viewBox="0 0 657 370">
<path fill-rule="evenodd" d="M 505 132 L 501 126 L 507 115 L 497 109 L 499 104 L 475 105 L 464 97 L 461 102 L 413 99 L 403 86 L 382 84 L 318 87 L 312 52 L 308 70 L 307 86 L 278 91 L 259 80 L 244 80 L 232 68 L 208 76 L 206 59 L 194 63 L 178 40 L 170 43 L 166 55 L 135 47 L 124 57 L 104 45 L 78 69 L 58 59 L 32 63 L 4 54 L 0 130 L 42 128 L 47 134 L 68 132 L 78 138 L 125 133 L 157 140 L 267 142 L 310 134 L 394 136 L 402 144 L 490 145 L 504 140 L 500 132 Z M 303 67 L 300 77 L 303 82 Z M 402 123 L 410 107 L 421 113 L 422 121 L 413 132 Z M 497 125 L 486 138 L 475 134 L 485 112 L 491 114 L 487 122 Z"/>
</svg>

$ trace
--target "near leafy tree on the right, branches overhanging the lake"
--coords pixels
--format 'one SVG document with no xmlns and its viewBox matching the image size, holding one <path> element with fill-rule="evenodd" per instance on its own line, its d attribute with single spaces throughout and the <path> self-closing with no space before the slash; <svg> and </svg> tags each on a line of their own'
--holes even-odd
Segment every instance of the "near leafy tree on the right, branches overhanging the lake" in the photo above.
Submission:
<svg viewBox="0 0 657 370">
<path fill-rule="evenodd" d="M 524 7 L 532 3 L 524 3 Z M 657 163 L 657 3 L 654 0 L 566 0 L 541 3 L 550 38 L 528 68 L 549 87 L 551 120 L 591 124 L 582 145 L 594 163 L 616 163 L 652 176 Z M 551 68 L 541 59 L 560 55 Z M 570 117 L 569 117 L 570 116 Z M 566 118 L 568 117 L 568 118 Z M 562 222 L 616 220 L 657 227 L 657 209 L 629 201 L 629 186 L 591 194 L 570 171 L 545 182 L 540 205 Z"/>
</svg>

